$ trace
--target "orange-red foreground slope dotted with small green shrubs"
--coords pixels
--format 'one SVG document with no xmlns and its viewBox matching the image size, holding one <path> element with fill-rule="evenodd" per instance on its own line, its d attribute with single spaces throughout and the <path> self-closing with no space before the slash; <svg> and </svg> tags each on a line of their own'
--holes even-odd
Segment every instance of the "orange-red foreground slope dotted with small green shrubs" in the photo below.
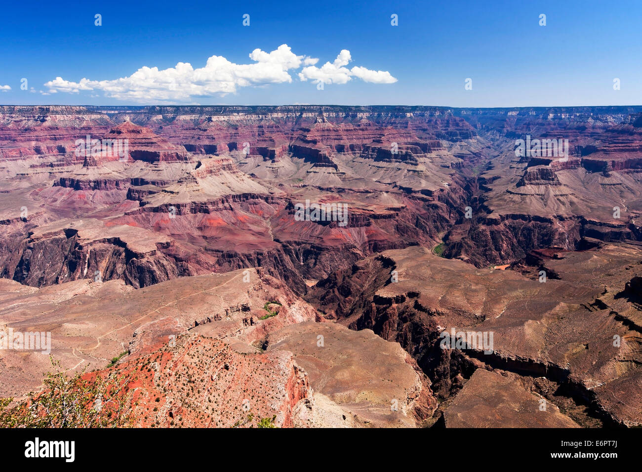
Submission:
<svg viewBox="0 0 642 472">
<path fill-rule="evenodd" d="M 148 367 L 141 371 L 140 365 Z M 85 378 L 110 374 L 128 385 L 120 401 L 137 427 L 249 428 L 273 418 L 275 426 L 287 428 L 297 404 L 313 399 L 308 376 L 291 353 L 243 355 L 200 336 L 178 337 L 175 347 Z"/>
</svg>

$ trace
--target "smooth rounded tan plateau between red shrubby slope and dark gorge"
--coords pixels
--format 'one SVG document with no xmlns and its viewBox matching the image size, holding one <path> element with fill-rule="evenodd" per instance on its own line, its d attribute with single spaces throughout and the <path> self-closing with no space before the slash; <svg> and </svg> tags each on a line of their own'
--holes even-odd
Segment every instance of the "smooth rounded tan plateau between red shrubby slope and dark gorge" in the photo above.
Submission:
<svg viewBox="0 0 642 472">
<path fill-rule="evenodd" d="M 430 381 L 417 363 L 399 344 L 372 331 L 304 322 L 271 333 L 268 341 L 268 353 L 294 353 L 317 394 L 368 426 L 416 426 L 437 408 Z"/>
</svg>

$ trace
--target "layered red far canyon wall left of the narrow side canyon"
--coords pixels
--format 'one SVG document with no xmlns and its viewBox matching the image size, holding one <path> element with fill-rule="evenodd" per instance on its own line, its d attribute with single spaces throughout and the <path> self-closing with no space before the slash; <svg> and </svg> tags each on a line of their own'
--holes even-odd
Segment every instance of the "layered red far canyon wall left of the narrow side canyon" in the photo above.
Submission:
<svg viewBox="0 0 642 472">
<path fill-rule="evenodd" d="M 149 253 L 132 254 L 117 232 L 112 238 L 92 234 L 78 240 L 72 220 L 58 228 L 57 236 L 39 240 L 26 228 L 7 232 L 4 244 L 18 253 L 5 260 L 3 273 L 34 286 L 100 271 L 106 280 L 141 287 L 261 266 L 304 293 L 306 279 L 324 277 L 364 255 L 431 244 L 453 218 L 449 205 L 465 198 L 460 180 L 443 170 L 461 158 L 428 156 L 444 149 L 435 144 L 437 134 L 450 133 L 449 139 L 456 140 L 459 131 L 453 129 L 469 128 L 452 116 L 428 118 L 428 112 L 413 119 L 395 112 L 370 122 L 363 116 L 317 111 L 225 120 L 200 114 L 195 121 L 178 109 L 177 116 L 159 121 L 144 109 L 108 116 L 66 107 L 31 111 L 48 115 L 34 119 L 25 109 L 3 109 L 4 132 L 31 140 L 31 151 L 22 150 L 31 152 L 23 163 L 4 155 L 14 179 L 3 182 L 8 191 L 26 192 L 21 205 L 30 213 L 29 227 L 80 217 L 87 218 L 81 223 L 97 227 L 152 231 L 163 241 Z M 293 127 L 291 120 L 299 124 Z M 117 124 L 105 130 L 110 121 Z M 397 128 L 402 124 L 406 129 Z M 91 141 L 83 155 L 76 152 L 74 139 L 87 135 Z M 217 144 L 203 144 L 203 139 Z M 101 148 L 103 141 L 117 140 L 127 143 L 124 149 L 116 147 L 123 155 Z M 381 144 L 393 140 L 399 141 L 395 153 Z M 216 155 L 221 152 L 227 155 Z M 355 158 L 360 161 L 353 162 Z M 433 161 L 444 164 L 437 167 Z M 406 184 L 397 177 L 408 170 L 412 175 Z M 376 189 L 364 192 L 364 179 L 378 180 Z M 445 180 L 453 182 L 449 191 Z M 336 189 L 342 189 L 341 198 Z M 384 189 L 389 193 L 381 193 Z M 347 205 L 345 221 L 295 220 L 295 202 L 306 199 Z"/>
</svg>

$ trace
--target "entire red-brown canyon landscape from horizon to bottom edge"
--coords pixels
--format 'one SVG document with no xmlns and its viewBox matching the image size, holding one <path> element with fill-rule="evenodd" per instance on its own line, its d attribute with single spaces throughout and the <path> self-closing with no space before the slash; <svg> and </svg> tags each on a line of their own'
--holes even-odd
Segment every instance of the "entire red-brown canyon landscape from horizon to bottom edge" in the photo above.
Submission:
<svg viewBox="0 0 642 472">
<path fill-rule="evenodd" d="M 642 107 L 4 106 L 0 323 L 137 426 L 640 426 L 641 172 Z"/>
</svg>

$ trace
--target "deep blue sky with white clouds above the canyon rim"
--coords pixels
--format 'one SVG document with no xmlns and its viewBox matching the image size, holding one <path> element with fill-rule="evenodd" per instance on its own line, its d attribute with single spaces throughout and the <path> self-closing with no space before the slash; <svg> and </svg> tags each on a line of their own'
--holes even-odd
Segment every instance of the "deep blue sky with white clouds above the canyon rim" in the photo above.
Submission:
<svg viewBox="0 0 642 472">
<path fill-rule="evenodd" d="M 639 1 L 87 3 L 4 4 L 0 87 L 11 89 L 0 92 L 0 103 L 642 104 Z M 96 13 L 102 26 L 94 26 Z M 243 26 L 245 13 L 250 26 Z M 390 24 L 393 13 L 399 26 Z M 539 26 L 541 13 L 546 26 Z M 270 56 L 268 66 L 255 67 L 252 51 L 282 44 L 290 58 Z M 331 73 L 320 73 L 343 49 L 350 62 L 344 55 Z M 130 78 L 143 66 L 201 69 L 212 56 L 225 58 L 229 70 L 183 67 Z M 306 80 L 304 67 L 311 67 Z M 63 82 L 45 85 L 56 77 Z M 30 90 L 21 90 L 22 78 Z M 83 89 L 69 92 L 82 78 L 89 80 Z"/>
</svg>

